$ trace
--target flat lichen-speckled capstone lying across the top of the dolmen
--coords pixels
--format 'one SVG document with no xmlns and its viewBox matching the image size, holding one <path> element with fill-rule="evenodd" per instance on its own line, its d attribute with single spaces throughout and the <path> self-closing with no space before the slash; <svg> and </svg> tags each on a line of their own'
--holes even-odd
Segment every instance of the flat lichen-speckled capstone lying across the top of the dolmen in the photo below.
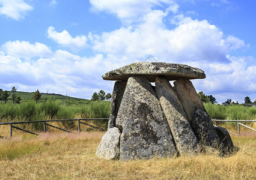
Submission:
<svg viewBox="0 0 256 180">
<path fill-rule="evenodd" d="M 204 79 L 206 74 L 199 68 L 185 64 L 173 64 L 166 62 L 135 62 L 130 65 L 109 71 L 104 74 L 104 80 L 127 80 L 130 76 L 143 76 L 150 82 L 155 82 L 157 76 L 163 75 L 168 80 Z"/>
</svg>

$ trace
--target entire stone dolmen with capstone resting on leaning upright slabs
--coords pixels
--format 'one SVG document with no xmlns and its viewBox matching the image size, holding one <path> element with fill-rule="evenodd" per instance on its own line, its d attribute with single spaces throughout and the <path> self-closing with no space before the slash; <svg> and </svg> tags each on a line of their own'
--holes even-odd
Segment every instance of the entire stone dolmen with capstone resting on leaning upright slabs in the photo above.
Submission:
<svg viewBox="0 0 256 180">
<path fill-rule="evenodd" d="M 209 148 L 220 154 L 233 151 L 230 134 L 213 125 L 189 80 L 205 78 L 203 70 L 184 64 L 136 62 L 102 77 L 116 82 L 108 131 L 97 156 L 133 160 L 196 155 Z"/>
</svg>

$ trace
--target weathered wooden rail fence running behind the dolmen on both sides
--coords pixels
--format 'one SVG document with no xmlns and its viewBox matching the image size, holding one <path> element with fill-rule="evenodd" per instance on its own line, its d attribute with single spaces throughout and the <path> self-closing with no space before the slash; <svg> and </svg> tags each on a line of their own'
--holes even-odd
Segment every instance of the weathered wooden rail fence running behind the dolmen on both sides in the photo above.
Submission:
<svg viewBox="0 0 256 180">
<path fill-rule="evenodd" d="M 2 123 L 0 123 L 0 125 L 10 125 L 10 139 L 13 136 L 13 128 L 16 128 L 17 130 L 25 131 L 26 133 L 31 133 L 31 134 L 38 135 L 37 133 L 25 130 L 23 128 L 16 127 L 16 126 L 14 126 L 14 124 L 31 124 L 31 123 L 43 122 L 44 123 L 44 133 L 46 133 L 46 126 L 53 127 L 53 128 L 58 129 L 58 130 L 61 130 L 61 131 L 66 131 L 68 133 L 74 133 L 72 131 L 65 130 L 64 128 L 60 128 L 60 127 L 56 127 L 54 125 L 48 124 L 47 122 L 78 121 L 78 132 L 79 133 L 81 133 L 81 124 L 88 125 L 90 127 L 97 128 L 99 130 L 105 131 L 102 128 L 96 127 L 96 126 L 91 125 L 91 124 L 87 124 L 85 122 L 81 122 L 81 121 L 91 121 L 91 120 L 97 120 L 97 121 L 104 120 L 105 121 L 105 120 L 109 120 L 109 118 L 55 119 L 55 120 L 43 120 L 43 121 L 2 122 Z M 212 119 L 212 121 L 215 121 L 215 122 L 237 122 L 237 134 L 236 133 L 232 133 L 231 131 L 228 131 L 231 134 L 239 135 L 240 134 L 240 125 L 242 125 L 243 127 L 248 128 L 249 130 L 252 130 L 252 131 L 256 132 L 256 130 L 254 130 L 254 128 L 248 127 L 247 125 L 240 123 L 240 122 L 256 122 L 256 120 L 221 120 L 221 119 Z M 0 138 L 7 138 L 8 139 L 8 137 L 4 137 L 4 136 L 0 136 Z"/>
</svg>

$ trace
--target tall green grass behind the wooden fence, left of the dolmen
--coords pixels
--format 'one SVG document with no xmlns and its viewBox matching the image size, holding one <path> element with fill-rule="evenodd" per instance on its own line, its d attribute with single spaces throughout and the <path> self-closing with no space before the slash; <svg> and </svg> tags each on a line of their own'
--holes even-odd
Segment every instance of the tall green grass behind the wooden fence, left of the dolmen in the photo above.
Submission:
<svg viewBox="0 0 256 180">
<path fill-rule="evenodd" d="M 108 118 L 110 115 L 109 101 L 91 101 L 79 103 L 72 100 L 46 100 L 36 104 L 32 100 L 20 104 L 1 104 L 0 122 L 14 121 L 41 121 L 50 119 L 74 118 Z M 103 128 L 107 127 L 106 121 L 95 121 Z M 66 128 L 74 128 L 75 121 L 59 122 Z M 32 128 L 43 130 L 43 124 L 33 123 Z"/>
</svg>

